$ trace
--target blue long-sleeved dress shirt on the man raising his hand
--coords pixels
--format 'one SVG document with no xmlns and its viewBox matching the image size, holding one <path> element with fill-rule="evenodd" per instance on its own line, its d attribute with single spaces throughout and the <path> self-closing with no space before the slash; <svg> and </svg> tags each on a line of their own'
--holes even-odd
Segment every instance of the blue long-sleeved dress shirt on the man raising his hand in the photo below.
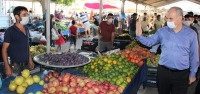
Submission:
<svg viewBox="0 0 200 94">
<path fill-rule="evenodd" d="M 161 44 L 160 65 L 170 69 L 184 70 L 190 68 L 190 77 L 195 77 L 199 67 L 198 40 L 194 30 L 183 26 L 175 33 L 165 26 L 149 37 L 137 36 L 142 44 L 151 47 Z"/>
</svg>

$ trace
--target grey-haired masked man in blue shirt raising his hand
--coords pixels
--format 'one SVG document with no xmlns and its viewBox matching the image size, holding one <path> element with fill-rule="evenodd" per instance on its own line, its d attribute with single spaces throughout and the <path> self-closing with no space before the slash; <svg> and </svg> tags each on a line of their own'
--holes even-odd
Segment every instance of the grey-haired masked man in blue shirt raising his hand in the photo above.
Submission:
<svg viewBox="0 0 200 94">
<path fill-rule="evenodd" d="M 199 66 L 197 34 L 182 25 L 182 18 L 181 8 L 170 8 L 167 26 L 150 37 L 142 36 L 141 22 L 136 24 L 137 40 L 146 46 L 161 44 L 157 74 L 159 94 L 186 94 L 188 84 L 196 80 Z"/>
</svg>

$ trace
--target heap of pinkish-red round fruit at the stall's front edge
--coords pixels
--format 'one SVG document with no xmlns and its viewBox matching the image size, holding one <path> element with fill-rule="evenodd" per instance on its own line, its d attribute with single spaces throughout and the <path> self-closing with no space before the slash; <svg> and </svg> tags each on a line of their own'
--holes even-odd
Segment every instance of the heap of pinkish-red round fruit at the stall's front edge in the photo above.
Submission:
<svg viewBox="0 0 200 94">
<path fill-rule="evenodd" d="M 121 94 L 123 92 L 121 87 L 108 81 L 98 82 L 70 73 L 55 76 L 53 73 L 48 73 L 44 78 L 46 82 L 42 90 L 44 94 Z"/>
</svg>

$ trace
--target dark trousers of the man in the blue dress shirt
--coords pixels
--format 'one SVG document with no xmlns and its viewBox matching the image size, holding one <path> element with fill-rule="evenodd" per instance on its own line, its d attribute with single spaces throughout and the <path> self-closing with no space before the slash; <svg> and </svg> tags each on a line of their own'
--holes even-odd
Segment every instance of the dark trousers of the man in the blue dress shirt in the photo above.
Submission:
<svg viewBox="0 0 200 94">
<path fill-rule="evenodd" d="M 158 66 L 157 84 L 159 94 L 187 94 L 189 86 L 189 69 L 171 71 Z"/>
</svg>

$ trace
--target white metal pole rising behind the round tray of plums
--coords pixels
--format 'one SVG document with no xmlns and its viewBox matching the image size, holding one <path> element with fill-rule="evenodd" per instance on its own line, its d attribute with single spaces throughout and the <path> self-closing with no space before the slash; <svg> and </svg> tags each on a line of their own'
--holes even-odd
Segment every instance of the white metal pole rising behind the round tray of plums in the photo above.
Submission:
<svg viewBox="0 0 200 94">
<path fill-rule="evenodd" d="M 46 36 L 47 53 L 50 53 L 50 0 L 46 0 Z"/>
</svg>

